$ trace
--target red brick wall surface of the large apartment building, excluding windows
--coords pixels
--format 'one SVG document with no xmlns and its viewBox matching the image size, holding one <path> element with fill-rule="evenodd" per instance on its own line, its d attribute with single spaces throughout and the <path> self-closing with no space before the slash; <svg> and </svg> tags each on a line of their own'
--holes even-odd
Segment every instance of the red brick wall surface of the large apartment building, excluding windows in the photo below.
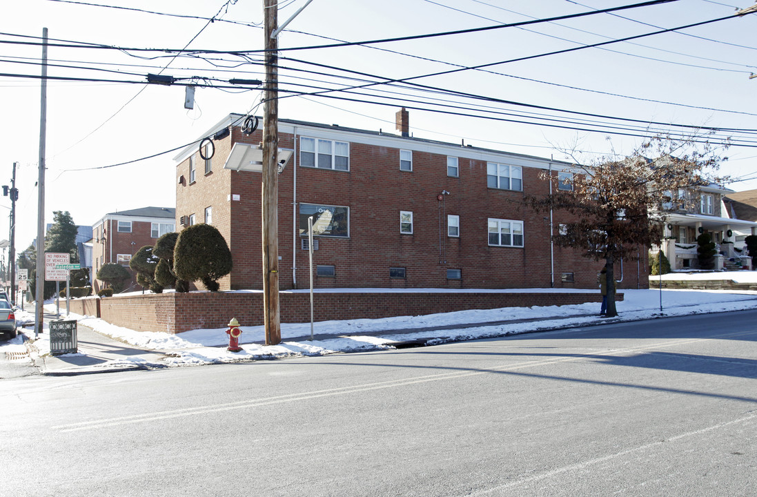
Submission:
<svg viewBox="0 0 757 497">
<path fill-rule="evenodd" d="M 308 136 L 306 130 L 298 133 Z M 279 147 L 294 148 L 293 139 L 291 133 L 279 133 Z M 229 137 L 217 142 L 216 157 L 225 160 L 232 142 L 257 144 L 260 140 L 260 130 L 248 137 L 234 128 Z M 299 143 L 296 145 L 299 149 Z M 334 265 L 336 274 L 314 277 L 317 288 L 548 288 L 552 284 L 557 288 L 597 288 L 602 263 L 568 248 L 554 249 L 552 280 L 549 213 L 528 209 L 523 202 L 526 194 L 549 192 L 548 183 L 539 177 L 544 170 L 522 168 L 525 192 L 491 189 L 487 186 L 485 160 L 461 157 L 459 177 L 447 177 L 447 155 L 418 150 L 420 145 L 412 139 L 400 145 L 413 150 L 412 172 L 399 170 L 399 146 L 350 142 L 349 171 L 298 167 L 297 155 L 292 158 L 279 175 L 280 288 L 304 288 L 309 281 L 307 251 L 301 249 L 301 238 L 294 234 L 295 200 L 298 204 L 350 208 L 349 238 L 319 237 L 313 264 Z M 465 151 L 461 154 L 469 153 L 466 148 L 461 150 Z M 213 178 L 208 179 L 202 177 L 201 166 L 198 159 L 195 185 L 177 186 L 177 219 L 195 211 L 201 222 L 204 207 L 212 204 L 213 225 L 229 242 L 234 261 L 231 276 L 220 282 L 221 289 L 260 289 L 261 175 L 221 170 L 220 164 L 214 165 Z M 179 174 L 188 178 L 188 161 L 179 164 L 177 177 Z M 217 176 L 223 176 L 223 182 L 216 181 Z M 450 192 L 444 202 L 437 199 L 442 190 Z M 227 195 L 233 194 L 240 195 L 238 202 L 227 200 Z M 412 235 L 400 233 L 400 211 L 413 211 Z M 459 238 L 447 236 L 447 214 L 459 216 Z M 489 246 L 490 217 L 522 220 L 525 246 Z M 568 219 L 565 214 L 555 213 L 555 233 L 559 223 Z M 390 279 L 389 267 L 405 267 L 407 277 Z M 461 270 L 462 280 L 447 280 L 447 269 Z M 563 272 L 572 273 L 574 282 L 563 283 Z M 619 287 L 648 285 L 646 264 L 640 265 L 638 273 L 635 263 L 625 264 Z"/>
</svg>

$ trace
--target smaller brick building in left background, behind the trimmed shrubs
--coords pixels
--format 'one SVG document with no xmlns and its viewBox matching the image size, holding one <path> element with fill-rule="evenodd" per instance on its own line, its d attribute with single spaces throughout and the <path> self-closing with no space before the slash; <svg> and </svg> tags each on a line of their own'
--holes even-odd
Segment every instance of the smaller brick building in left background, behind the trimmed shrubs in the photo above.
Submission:
<svg viewBox="0 0 757 497">
<path fill-rule="evenodd" d="M 132 255 L 145 245 L 155 245 L 164 233 L 176 230 L 176 209 L 145 207 L 105 214 L 92 225 L 92 269 L 95 292 L 104 283 L 96 280 L 100 267 L 108 262 L 129 267 Z M 135 283 L 132 277 L 132 283 Z M 127 285 L 130 286 L 131 284 Z"/>
</svg>

